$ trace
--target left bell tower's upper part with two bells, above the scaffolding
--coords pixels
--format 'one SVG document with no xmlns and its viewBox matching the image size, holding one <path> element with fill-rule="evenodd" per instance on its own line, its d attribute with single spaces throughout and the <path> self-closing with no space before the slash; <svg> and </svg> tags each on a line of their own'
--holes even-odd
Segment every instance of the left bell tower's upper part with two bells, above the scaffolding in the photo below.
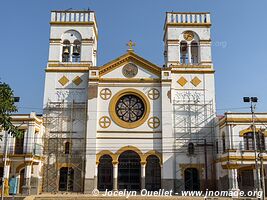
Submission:
<svg viewBox="0 0 267 200">
<path fill-rule="evenodd" d="M 93 11 L 52 11 L 44 106 L 86 102 L 88 69 L 97 65 L 98 28 Z"/>
</svg>

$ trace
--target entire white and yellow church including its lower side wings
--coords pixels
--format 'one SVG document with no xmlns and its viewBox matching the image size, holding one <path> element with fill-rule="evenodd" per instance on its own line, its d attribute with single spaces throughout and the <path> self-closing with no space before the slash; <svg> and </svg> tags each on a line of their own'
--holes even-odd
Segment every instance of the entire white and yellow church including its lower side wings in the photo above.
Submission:
<svg viewBox="0 0 267 200">
<path fill-rule="evenodd" d="M 215 114 L 209 13 L 166 13 L 162 66 L 133 41 L 99 66 L 93 11 L 50 25 L 43 115 L 13 115 L 23 137 L 0 141 L 5 194 L 252 191 L 265 177 L 266 113 Z"/>
</svg>

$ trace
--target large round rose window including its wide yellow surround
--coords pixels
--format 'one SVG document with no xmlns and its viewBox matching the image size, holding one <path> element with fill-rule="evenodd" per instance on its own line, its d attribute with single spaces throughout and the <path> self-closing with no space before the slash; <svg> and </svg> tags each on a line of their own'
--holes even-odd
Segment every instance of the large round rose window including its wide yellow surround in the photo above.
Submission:
<svg viewBox="0 0 267 200">
<path fill-rule="evenodd" d="M 136 128 L 148 118 L 150 103 L 145 94 L 136 89 L 124 89 L 109 103 L 111 119 L 120 127 Z"/>
</svg>

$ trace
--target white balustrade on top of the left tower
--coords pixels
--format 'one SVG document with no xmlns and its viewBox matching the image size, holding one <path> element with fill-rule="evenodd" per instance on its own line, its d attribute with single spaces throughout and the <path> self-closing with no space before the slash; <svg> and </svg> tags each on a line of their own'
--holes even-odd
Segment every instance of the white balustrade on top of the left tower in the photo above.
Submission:
<svg viewBox="0 0 267 200">
<path fill-rule="evenodd" d="M 92 11 L 52 11 L 51 22 L 95 22 Z"/>
</svg>

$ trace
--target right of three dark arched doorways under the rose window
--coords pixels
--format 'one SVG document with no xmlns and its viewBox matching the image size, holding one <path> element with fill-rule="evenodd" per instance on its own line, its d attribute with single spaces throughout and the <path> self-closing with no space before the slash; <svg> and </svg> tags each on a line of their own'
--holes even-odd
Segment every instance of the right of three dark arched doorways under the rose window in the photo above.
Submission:
<svg viewBox="0 0 267 200">
<path fill-rule="evenodd" d="M 161 188 L 160 160 L 155 155 L 147 157 L 146 163 L 146 189 L 158 191 Z"/>
</svg>

